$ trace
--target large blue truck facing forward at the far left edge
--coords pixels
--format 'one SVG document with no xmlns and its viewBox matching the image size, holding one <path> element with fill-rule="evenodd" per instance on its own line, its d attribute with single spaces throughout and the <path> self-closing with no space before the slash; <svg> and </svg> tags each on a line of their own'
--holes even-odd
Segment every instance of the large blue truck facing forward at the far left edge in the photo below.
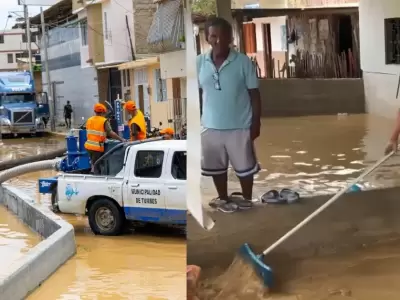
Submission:
<svg viewBox="0 0 400 300">
<path fill-rule="evenodd" d="M 1 134 L 41 134 L 49 120 L 46 93 L 37 93 L 30 72 L 0 72 Z"/>
</svg>

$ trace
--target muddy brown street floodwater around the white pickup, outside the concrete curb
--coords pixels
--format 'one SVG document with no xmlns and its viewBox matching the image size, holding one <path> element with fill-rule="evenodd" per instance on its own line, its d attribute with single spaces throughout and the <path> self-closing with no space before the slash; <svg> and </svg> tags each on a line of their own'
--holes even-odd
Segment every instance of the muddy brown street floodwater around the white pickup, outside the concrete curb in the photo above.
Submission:
<svg viewBox="0 0 400 300">
<path fill-rule="evenodd" d="M 63 147 L 64 139 L 25 138 L 4 140 L 4 143 L 0 149 L 1 161 Z M 54 174 L 51 171 L 31 173 L 7 184 L 20 188 L 36 198 L 43 209 L 48 209 L 50 199 L 38 194 L 37 179 Z M 75 228 L 77 254 L 27 299 L 186 298 L 186 242 L 182 236 L 161 231 L 119 237 L 94 236 L 85 217 L 62 217 Z M 15 247 L 22 249 L 22 246 Z"/>
</svg>

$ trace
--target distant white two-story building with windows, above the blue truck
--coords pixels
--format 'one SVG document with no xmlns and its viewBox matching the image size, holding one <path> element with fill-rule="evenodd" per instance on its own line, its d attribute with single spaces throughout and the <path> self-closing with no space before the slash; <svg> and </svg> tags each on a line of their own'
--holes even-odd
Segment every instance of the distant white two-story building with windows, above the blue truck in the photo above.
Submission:
<svg viewBox="0 0 400 300">
<path fill-rule="evenodd" d="M 37 28 L 31 28 L 32 54 L 38 53 Z M 28 38 L 26 30 L 8 29 L 0 32 L 0 71 L 17 71 L 18 60 L 26 59 L 28 54 Z"/>
</svg>

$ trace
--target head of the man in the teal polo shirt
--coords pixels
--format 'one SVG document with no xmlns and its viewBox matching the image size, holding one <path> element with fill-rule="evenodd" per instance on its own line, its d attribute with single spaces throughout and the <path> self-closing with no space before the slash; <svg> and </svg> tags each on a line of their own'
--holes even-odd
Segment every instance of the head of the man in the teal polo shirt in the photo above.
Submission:
<svg viewBox="0 0 400 300">
<path fill-rule="evenodd" d="M 231 24 L 223 18 L 211 18 L 205 25 L 206 40 L 215 54 L 225 53 L 233 42 Z"/>
</svg>

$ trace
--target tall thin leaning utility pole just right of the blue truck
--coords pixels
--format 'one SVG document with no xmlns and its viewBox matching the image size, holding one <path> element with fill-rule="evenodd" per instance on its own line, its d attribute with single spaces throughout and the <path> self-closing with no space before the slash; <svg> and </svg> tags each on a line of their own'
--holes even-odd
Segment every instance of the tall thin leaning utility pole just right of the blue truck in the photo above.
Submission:
<svg viewBox="0 0 400 300">
<path fill-rule="evenodd" d="M 49 54 L 47 51 L 47 31 L 46 31 L 46 25 L 44 23 L 44 13 L 43 13 L 43 7 L 40 8 L 40 21 L 42 25 L 42 50 L 44 54 L 44 68 L 46 70 L 46 82 L 47 82 L 47 97 L 49 100 L 49 111 L 50 111 L 50 129 L 51 131 L 56 130 L 56 122 L 54 118 L 54 107 L 55 107 L 55 97 L 53 97 L 53 87 L 52 83 L 50 81 L 50 71 L 49 71 Z M 43 61 L 43 59 L 42 59 Z"/>
</svg>

